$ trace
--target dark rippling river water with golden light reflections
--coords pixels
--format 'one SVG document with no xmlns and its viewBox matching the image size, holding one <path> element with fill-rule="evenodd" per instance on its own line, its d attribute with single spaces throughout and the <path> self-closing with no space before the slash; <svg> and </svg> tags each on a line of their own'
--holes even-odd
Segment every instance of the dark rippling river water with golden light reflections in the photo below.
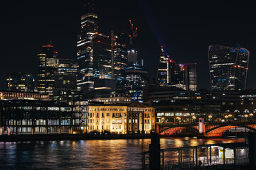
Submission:
<svg viewBox="0 0 256 170">
<path fill-rule="evenodd" d="M 150 139 L 0 142 L 0 169 L 141 169 Z M 242 139 L 162 138 L 161 149 L 244 142 Z"/>
</svg>

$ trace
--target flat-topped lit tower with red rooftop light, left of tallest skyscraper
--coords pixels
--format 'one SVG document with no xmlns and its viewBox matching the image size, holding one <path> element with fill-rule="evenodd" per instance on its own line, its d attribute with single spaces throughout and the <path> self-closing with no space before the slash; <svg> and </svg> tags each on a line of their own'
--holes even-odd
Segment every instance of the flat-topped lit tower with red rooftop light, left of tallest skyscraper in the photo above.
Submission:
<svg viewBox="0 0 256 170">
<path fill-rule="evenodd" d="M 38 53 L 38 92 L 53 95 L 55 72 L 57 70 L 58 52 L 53 45 L 43 45 Z"/>
</svg>

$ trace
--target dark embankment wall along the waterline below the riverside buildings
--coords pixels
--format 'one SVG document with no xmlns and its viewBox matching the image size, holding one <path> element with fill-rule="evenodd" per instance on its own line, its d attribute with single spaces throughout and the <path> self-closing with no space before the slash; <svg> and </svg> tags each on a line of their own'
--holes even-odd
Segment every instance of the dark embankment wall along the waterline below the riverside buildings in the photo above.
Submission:
<svg viewBox="0 0 256 170">
<path fill-rule="evenodd" d="M 0 142 L 37 141 L 37 140 L 120 140 L 120 139 L 147 139 L 150 134 L 133 135 L 86 135 L 86 134 L 36 134 L 36 135 L 2 135 Z"/>
</svg>

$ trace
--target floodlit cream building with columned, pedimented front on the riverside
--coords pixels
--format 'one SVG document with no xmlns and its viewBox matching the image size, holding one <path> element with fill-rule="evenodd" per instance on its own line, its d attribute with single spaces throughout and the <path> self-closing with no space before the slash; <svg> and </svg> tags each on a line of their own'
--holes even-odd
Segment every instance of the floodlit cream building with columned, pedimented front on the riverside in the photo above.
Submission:
<svg viewBox="0 0 256 170">
<path fill-rule="evenodd" d="M 152 106 L 138 101 L 130 104 L 89 103 L 88 132 L 150 133 L 155 129 L 154 114 Z"/>
</svg>

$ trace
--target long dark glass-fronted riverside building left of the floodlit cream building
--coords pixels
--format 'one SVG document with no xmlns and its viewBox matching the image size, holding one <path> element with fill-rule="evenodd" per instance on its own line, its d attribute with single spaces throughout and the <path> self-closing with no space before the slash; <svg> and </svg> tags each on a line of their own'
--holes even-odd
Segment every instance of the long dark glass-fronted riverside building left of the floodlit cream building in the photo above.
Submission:
<svg viewBox="0 0 256 170">
<path fill-rule="evenodd" d="M 86 132 L 87 101 L 0 100 L 0 135 Z"/>
</svg>

